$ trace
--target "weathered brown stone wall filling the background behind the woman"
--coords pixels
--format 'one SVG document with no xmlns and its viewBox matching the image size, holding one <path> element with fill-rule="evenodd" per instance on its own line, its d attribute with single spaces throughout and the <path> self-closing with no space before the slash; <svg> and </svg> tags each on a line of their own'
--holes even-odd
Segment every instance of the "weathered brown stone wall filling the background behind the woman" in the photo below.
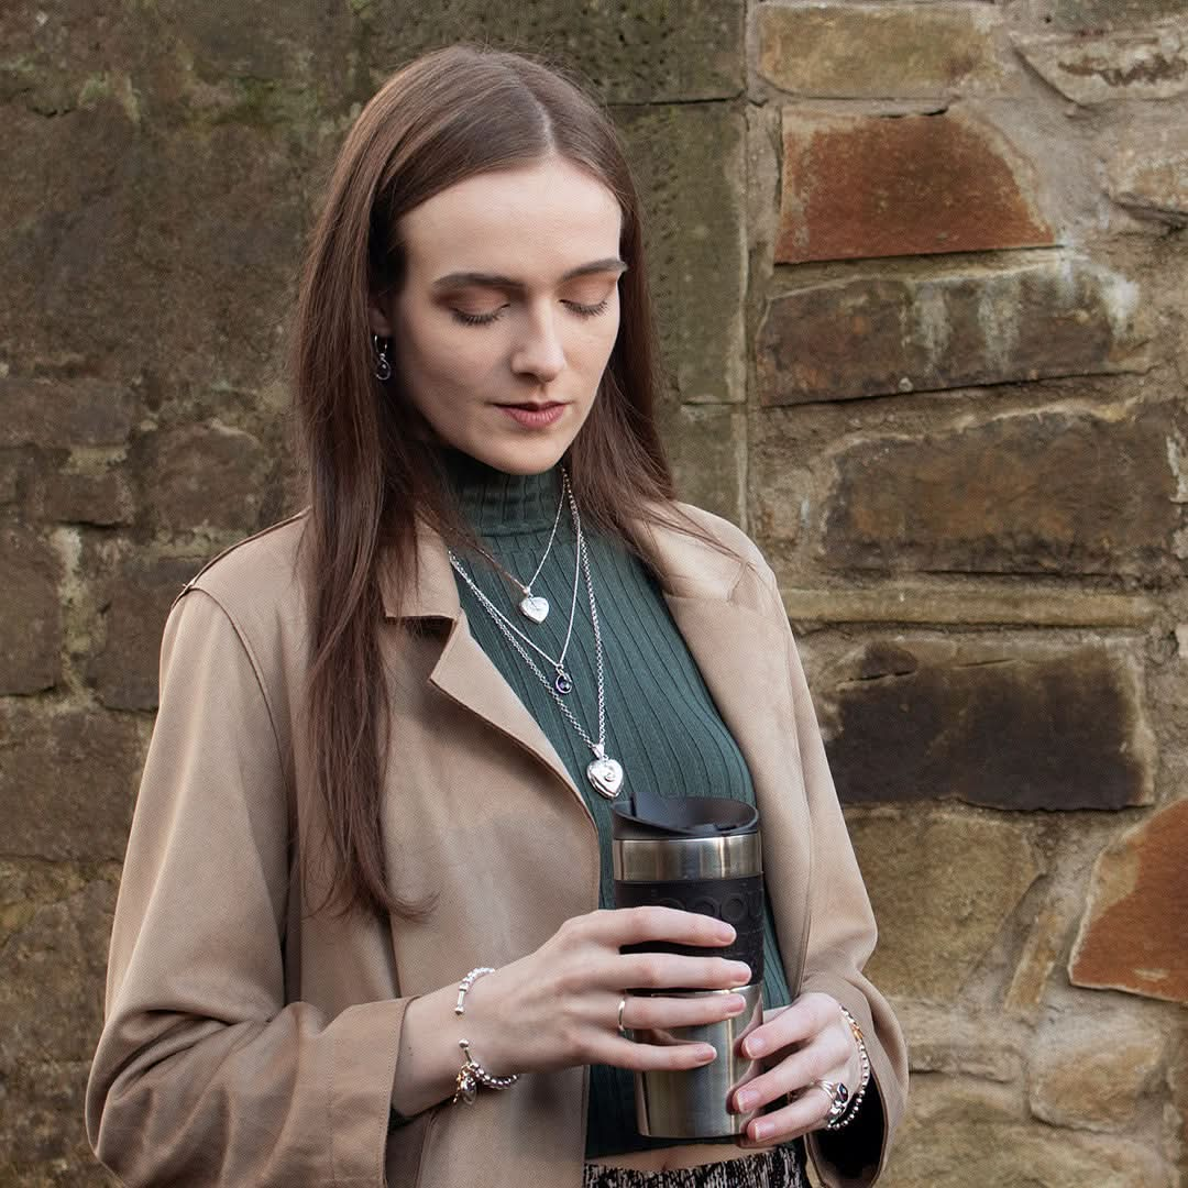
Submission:
<svg viewBox="0 0 1188 1188">
<path fill-rule="evenodd" d="M 784 588 L 912 1051 L 889 1188 L 1188 1183 L 1188 4 L 0 10 L 0 1181 L 82 1087 L 165 609 L 392 67 L 549 51 L 651 215 L 688 498 Z"/>
</svg>

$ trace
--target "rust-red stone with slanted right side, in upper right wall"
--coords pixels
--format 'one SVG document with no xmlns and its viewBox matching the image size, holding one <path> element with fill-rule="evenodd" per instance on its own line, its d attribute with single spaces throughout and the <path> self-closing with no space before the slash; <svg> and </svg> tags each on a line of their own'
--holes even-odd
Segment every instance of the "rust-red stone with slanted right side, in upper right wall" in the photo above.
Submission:
<svg viewBox="0 0 1188 1188">
<path fill-rule="evenodd" d="M 1051 245 L 1029 172 L 1001 133 L 956 112 L 786 108 L 776 261 Z"/>
</svg>

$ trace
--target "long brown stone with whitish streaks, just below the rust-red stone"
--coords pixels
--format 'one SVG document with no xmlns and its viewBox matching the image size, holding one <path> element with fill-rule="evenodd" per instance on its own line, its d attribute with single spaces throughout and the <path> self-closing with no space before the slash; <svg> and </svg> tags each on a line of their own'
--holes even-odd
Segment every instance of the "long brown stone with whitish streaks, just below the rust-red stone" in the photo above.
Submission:
<svg viewBox="0 0 1188 1188">
<path fill-rule="evenodd" d="M 765 405 L 849 400 L 1140 366 L 1137 285 L 1083 258 L 807 285 L 756 343 Z"/>
</svg>

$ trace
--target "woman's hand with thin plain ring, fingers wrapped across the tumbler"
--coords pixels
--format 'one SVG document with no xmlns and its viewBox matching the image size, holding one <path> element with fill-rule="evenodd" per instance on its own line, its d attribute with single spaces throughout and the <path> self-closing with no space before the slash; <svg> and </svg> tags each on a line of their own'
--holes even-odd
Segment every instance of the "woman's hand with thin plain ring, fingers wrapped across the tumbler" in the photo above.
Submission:
<svg viewBox="0 0 1188 1188">
<path fill-rule="evenodd" d="M 740 1015 L 739 994 L 672 998 L 665 988 L 732 990 L 751 972 L 714 956 L 734 929 L 712 916 L 674 908 L 619 908 L 567 921 L 536 952 L 480 978 L 466 997 L 466 1031 L 494 1075 L 545 1072 L 574 1064 L 615 1064 L 634 1070 L 687 1069 L 714 1059 L 709 1044 L 637 1043 L 619 1034 L 619 1004 L 627 1029 L 668 1029 Z M 645 942 L 702 946 L 706 956 L 621 953 Z"/>
</svg>

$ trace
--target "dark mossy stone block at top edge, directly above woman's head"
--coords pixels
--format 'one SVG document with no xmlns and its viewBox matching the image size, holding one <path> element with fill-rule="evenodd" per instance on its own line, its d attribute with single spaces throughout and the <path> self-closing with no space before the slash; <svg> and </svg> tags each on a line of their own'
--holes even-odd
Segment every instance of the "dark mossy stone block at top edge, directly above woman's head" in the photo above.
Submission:
<svg viewBox="0 0 1188 1188">
<path fill-rule="evenodd" d="M 421 50 L 468 40 L 544 52 L 609 103 L 725 99 L 742 90 L 742 0 L 453 0 L 434 8 L 361 0 L 352 7 L 367 34 L 368 61 L 385 72 Z"/>
</svg>

